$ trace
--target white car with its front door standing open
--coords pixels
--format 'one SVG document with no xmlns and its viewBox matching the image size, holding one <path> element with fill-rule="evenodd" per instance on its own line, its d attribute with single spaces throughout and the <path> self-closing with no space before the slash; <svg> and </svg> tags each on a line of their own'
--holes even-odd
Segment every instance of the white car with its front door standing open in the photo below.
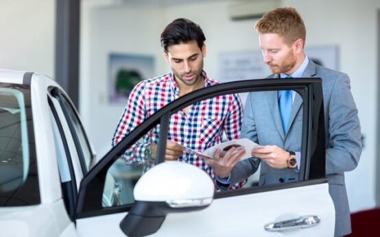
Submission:
<svg viewBox="0 0 380 237">
<path fill-rule="evenodd" d="M 333 236 L 324 172 L 320 79 L 255 79 L 180 97 L 102 159 L 53 79 L 0 71 L 0 236 Z M 230 93 L 296 90 L 303 99 L 300 180 L 215 192 L 204 171 L 163 162 L 168 121 L 192 103 Z M 244 98 L 244 94 L 241 94 Z M 143 173 L 123 153 L 158 129 L 156 165 Z"/>
</svg>

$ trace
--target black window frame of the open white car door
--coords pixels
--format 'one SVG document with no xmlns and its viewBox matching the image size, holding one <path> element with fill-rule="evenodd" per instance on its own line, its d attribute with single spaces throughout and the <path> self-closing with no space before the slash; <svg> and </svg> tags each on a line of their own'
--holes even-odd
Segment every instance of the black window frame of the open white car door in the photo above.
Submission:
<svg viewBox="0 0 380 237">
<path fill-rule="evenodd" d="M 217 95 L 268 90 L 295 90 L 303 99 L 304 122 L 302 123 L 301 154 L 302 160 L 305 162 L 301 164 L 300 180 L 305 182 L 291 185 L 305 186 L 307 185 L 307 180 L 317 178 L 322 178 L 320 180 L 322 183 L 326 182 L 326 179 L 323 179 L 325 177 L 324 152 L 326 144 L 324 136 L 322 80 L 320 78 L 287 79 L 286 81 L 279 79 L 252 79 L 228 82 L 196 90 L 172 101 L 155 114 L 152 114 L 152 116 L 130 132 L 128 136 L 124 137 L 118 145 L 110 149 L 81 182 L 76 205 L 76 218 L 128 212 L 130 210 L 132 205 L 102 208 L 102 192 L 108 168 L 122 155 L 126 147 L 129 147 L 139 139 L 141 134 L 147 133 L 158 123 L 160 123 L 162 130 L 167 130 L 171 114 L 196 101 L 209 99 Z M 162 147 L 166 147 L 166 138 L 167 133 L 160 133 L 156 164 L 164 161 L 165 149 L 162 149 Z M 239 192 L 230 192 L 228 195 L 238 195 L 240 192 L 263 192 L 268 190 L 268 188 L 270 189 L 271 187 L 257 187 L 254 190 L 248 188 Z M 220 196 L 216 195 L 216 197 L 224 197 L 224 195 L 220 194 Z"/>
</svg>

